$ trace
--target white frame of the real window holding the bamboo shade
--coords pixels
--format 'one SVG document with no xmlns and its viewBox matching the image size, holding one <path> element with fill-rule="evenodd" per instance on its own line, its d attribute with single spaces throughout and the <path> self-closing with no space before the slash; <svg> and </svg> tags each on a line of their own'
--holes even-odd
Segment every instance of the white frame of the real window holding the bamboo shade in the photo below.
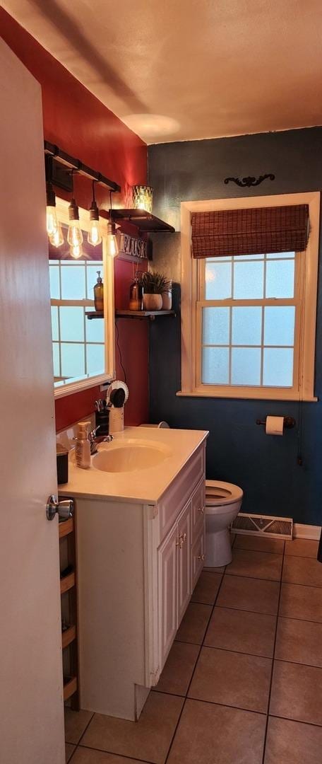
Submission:
<svg viewBox="0 0 322 764">
<path fill-rule="evenodd" d="M 198 319 L 198 259 L 191 252 L 192 212 L 213 212 L 223 209 L 308 204 L 310 236 L 308 247 L 301 252 L 297 267 L 301 283 L 301 326 L 295 347 L 295 384 L 284 387 L 250 387 L 205 385 L 200 377 L 201 328 Z M 307 400 L 314 397 L 315 332 L 317 319 L 317 271 L 320 225 L 320 192 L 250 196 L 238 199 L 211 199 L 181 204 L 181 267 L 182 267 L 182 389 L 178 396 L 214 398 L 250 398 L 260 400 Z M 287 301 L 286 301 L 287 302 Z M 276 301 L 274 301 L 276 305 Z M 207 301 L 211 306 L 211 301 Z M 223 303 L 224 305 L 224 303 Z"/>
</svg>

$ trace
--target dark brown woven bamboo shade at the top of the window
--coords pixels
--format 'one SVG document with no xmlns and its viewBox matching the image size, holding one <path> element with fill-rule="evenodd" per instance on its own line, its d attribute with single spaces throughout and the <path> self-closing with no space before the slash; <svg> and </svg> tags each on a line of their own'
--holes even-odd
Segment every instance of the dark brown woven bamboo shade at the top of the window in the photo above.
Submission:
<svg viewBox="0 0 322 764">
<path fill-rule="evenodd" d="M 308 244 L 308 205 L 192 212 L 192 256 L 301 252 Z"/>
</svg>

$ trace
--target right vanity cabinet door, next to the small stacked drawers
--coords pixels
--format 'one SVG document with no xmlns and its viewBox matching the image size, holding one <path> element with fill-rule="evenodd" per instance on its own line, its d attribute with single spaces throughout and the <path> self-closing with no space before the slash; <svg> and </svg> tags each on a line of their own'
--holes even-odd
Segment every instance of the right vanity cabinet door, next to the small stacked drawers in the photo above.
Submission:
<svg viewBox="0 0 322 764">
<path fill-rule="evenodd" d="M 191 502 L 179 517 L 178 522 L 178 625 L 185 613 L 192 593 L 191 574 Z"/>
</svg>

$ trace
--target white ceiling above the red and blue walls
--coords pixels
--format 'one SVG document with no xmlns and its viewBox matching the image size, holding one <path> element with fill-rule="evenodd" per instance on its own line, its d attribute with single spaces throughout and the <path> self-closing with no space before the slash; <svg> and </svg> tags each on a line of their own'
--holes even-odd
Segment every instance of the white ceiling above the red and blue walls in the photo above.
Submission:
<svg viewBox="0 0 322 764">
<path fill-rule="evenodd" d="M 321 0 L 5 0 L 147 143 L 322 124 Z"/>
</svg>

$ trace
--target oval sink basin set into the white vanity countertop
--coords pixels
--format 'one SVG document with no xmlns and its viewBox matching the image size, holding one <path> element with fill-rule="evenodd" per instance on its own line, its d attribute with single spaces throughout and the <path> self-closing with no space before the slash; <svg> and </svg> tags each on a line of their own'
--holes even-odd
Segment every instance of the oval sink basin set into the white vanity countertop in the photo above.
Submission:
<svg viewBox="0 0 322 764">
<path fill-rule="evenodd" d="M 92 457 L 92 466 L 104 472 L 134 472 L 147 470 L 171 456 L 171 449 L 164 444 L 150 442 L 127 442 L 101 444 L 98 454 Z"/>
</svg>

